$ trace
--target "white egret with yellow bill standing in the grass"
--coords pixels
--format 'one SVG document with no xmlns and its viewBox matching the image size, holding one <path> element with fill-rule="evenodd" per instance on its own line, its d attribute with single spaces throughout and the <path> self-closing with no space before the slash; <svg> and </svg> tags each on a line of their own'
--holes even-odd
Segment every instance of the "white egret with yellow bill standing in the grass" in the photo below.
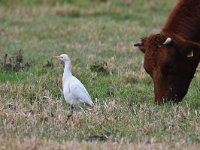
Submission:
<svg viewBox="0 0 200 150">
<path fill-rule="evenodd" d="M 62 77 L 63 95 L 65 101 L 71 105 L 71 114 L 68 117 L 73 115 L 74 107 L 82 104 L 93 106 L 92 99 L 84 85 L 72 75 L 72 64 L 68 55 L 61 54 L 60 56 L 53 56 L 53 58 L 58 58 L 64 62 L 64 72 Z"/>
</svg>

